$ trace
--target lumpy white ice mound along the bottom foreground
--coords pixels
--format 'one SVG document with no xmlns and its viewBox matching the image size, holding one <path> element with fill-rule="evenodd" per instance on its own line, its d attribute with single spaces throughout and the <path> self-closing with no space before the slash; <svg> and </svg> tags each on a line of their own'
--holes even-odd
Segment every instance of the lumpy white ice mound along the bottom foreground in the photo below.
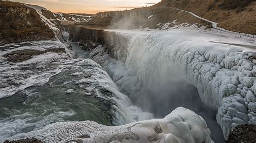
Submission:
<svg viewBox="0 0 256 143">
<path fill-rule="evenodd" d="M 55 123 L 42 130 L 16 134 L 9 140 L 35 137 L 44 142 L 213 142 L 210 134 L 203 118 L 177 108 L 163 119 L 122 126 L 104 126 L 94 121 Z"/>
</svg>

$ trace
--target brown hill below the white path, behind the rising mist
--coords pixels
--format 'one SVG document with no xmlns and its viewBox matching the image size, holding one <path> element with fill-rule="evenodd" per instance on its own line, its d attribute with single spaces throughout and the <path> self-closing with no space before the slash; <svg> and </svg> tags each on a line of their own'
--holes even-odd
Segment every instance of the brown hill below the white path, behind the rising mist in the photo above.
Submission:
<svg viewBox="0 0 256 143">
<path fill-rule="evenodd" d="M 150 17 L 150 18 L 149 18 Z M 97 13 L 96 17 L 88 23 L 76 24 L 75 27 L 87 28 L 159 28 L 164 23 L 171 23 L 176 20 L 176 24 L 199 23 L 207 25 L 203 20 L 192 15 L 171 9 L 166 3 L 158 3 L 148 8 L 137 8 L 127 11 L 110 11 Z M 170 25 L 171 26 L 171 25 Z"/>
</svg>

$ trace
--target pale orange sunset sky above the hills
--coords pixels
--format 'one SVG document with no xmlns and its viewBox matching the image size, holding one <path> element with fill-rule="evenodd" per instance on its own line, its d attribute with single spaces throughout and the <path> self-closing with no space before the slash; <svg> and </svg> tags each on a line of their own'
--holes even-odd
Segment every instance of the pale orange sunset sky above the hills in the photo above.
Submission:
<svg viewBox="0 0 256 143">
<path fill-rule="evenodd" d="M 12 0 L 40 5 L 52 12 L 90 13 L 117 11 L 150 6 L 161 0 Z"/>
</svg>

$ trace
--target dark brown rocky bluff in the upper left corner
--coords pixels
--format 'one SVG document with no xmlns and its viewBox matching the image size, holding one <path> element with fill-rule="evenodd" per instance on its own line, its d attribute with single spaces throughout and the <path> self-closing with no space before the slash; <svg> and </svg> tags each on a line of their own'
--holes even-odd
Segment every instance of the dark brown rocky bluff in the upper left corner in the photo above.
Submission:
<svg viewBox="0 0 256 143">
<path fill-rule="evenodd" d="M 0 46 L 55 37 L 36 10 L 22 3 L 0 2 Z"/>
</svg>

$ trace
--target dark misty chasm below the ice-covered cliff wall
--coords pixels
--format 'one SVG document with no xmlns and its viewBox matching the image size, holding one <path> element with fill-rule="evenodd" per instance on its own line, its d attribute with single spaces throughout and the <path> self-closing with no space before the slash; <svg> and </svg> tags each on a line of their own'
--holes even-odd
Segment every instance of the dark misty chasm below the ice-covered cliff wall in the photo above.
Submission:
<svg viewBox="0 0 256 143">
<path fill-rule="evenodd" d="M 211 130 L 211 138 L 215 142 L 225 142 L 221 127 L 217 124 L 217 110 L 208 108 L 201 102 L 197 89 L 186 81 L 155 80 L 149 88 L 144 88 L 138 104 L 149 110 L 157 118 L 164 118 L 174 109 L 183 106 L 203 117 Z"/>
</svg>

